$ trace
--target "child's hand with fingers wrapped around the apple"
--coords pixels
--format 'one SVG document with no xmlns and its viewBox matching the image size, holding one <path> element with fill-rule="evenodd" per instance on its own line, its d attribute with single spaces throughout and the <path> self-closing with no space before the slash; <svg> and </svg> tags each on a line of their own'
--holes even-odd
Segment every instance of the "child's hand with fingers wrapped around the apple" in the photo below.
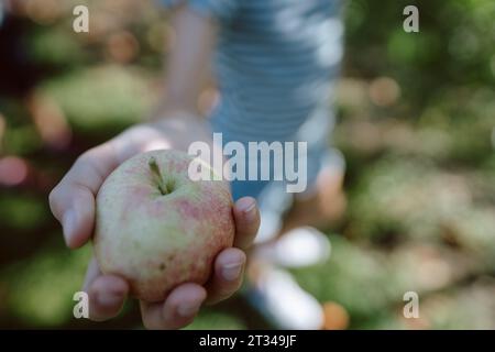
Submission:
<svg viewBox="0 0 495 352">
<path fill-rule="evenodd" d="M 189 120 L 188 120 L 189 119 Z M 190 119 L 195 119 L 194 121 Z M 153 148 L 186 150 L 194 141 L 207 141 L 206 123 L 196 118 L 167 119 L 129 129 L 113 140 L 84 153 L 50 195 L 50 206 L 61 221 L 67 245 L 77 249 L 91 238 L 95 198 L 107 176 L 131 156 Z M 253 198 L 234 205 L 234 248 L 223 250 L 215 262 L 210 280 L 204 286 L 188 283 L 176 287 L 163 302 L 141 301 L 143 323 L 148 329 L 178 329 L 190 323 L 201 304 L 231 296 L 242 283 L 243 250 L 249 248 L 260 226 Z M 129 294 L 129 284 L 116 275 L 103 275 L 91 260 L 84 290 L 89 295 L 90 318 L 106 320 L 118 315 Z"/>
</svg>

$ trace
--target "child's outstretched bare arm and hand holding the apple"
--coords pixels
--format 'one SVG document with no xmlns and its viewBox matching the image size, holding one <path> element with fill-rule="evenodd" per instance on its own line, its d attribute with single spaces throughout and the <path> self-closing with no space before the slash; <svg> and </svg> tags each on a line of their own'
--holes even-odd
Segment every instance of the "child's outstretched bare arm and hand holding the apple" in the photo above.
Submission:
<svg viewBox="0 0 495 352">
<path fill-rule="evenodd" d="M 196 114 L 198 77 L 204 76 L 215 41 L 215 24 L 187 8 L 173 15 L 177 31 L 167 66 L 167 97 L 151 123 L 132 127 L 117 138 L 84 153 L 50 195 L 50 206 L 63 226 L 72 249 L 88 242 L 95 221 L 95 197 L 106 177 L 129 157 L 152 148 L 187 150 L 190 142 L 209 140 L 205 119 Z M 245 250 L 257 232 L 260 216 L 254 199 L 242 198 L 233 209 L 237 224 L 234 248 L 216 258 L 207 285 L 187 283 L 175 288 L 163 302 L 141 301 L 146 328 L 182 328 L 193 321 L 205 301 L 216 302 L 232 295 L 241 285 Z M 114 317 L 129 293 L 128 283 L 116 275 L 102 275 L 91 260 L 84 289 L 89 294 L 90 317 Z"/>
</svg>

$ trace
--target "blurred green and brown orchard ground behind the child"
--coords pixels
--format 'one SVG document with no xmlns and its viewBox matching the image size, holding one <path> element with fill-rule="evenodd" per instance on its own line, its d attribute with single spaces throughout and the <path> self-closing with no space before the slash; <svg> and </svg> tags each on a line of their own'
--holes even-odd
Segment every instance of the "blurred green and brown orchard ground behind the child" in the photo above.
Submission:
<svg viewBox="0 0 495 352">
<path fill-rule="evenodd" d="M 89 34 L 72 30 L 76 4 Z M 420 33 L 403 31 L 407 4 Z M 333 140 L 348 210 L 331 260 L 295 274 L 336 327 L 495 329 L 495 1 L 352 0 L 345 28 Z M 132 301 L 110 322 L 73 318 L 90 248 L 64 246 L 47 194 L 146 117 L 173 42 L 152 1 L 15 1 L 0 29 L 0 328 L 141 327 Z M 408 290 L 419 319 L 403 317 Z M 237 297 L 191 327 L 266 323 Z"/>
</svg>

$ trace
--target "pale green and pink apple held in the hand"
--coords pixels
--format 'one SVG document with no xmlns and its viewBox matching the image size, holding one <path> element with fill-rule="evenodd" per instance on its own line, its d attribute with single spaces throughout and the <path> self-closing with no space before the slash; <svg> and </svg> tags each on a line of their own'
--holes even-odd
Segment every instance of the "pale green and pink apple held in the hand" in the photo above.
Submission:
<svg viewBox="0 0 495 352">
<path fill-rule="evenodd" d="M 191 180 L 194 160 L 178 151 L 139 154 L 114 169 L 98 191 L 97 261 L 103 274 L 125 278 L 139 299 L 161 301 L 182 283 L 205 284 L 216 255 L 232 246 L 229 186 Z"/>
</svg>

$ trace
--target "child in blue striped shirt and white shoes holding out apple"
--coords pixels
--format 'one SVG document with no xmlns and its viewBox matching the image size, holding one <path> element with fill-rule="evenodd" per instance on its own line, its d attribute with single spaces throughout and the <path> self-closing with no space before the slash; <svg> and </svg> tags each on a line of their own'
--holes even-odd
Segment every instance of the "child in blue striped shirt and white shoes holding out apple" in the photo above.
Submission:
<svg viewBox="0 0 495 352">
<path fill-rule="evenodd" d="M 127 158 L 154 148 L 187 151 L 196 141 L 245 145 L 257 141 L 307 142 L 308 188 L 287 194 L 284 182 L 233 180 L 235 245 L 221 252 L 208 284 L 183 284 L 163 302 L 141 301 L 144 326 L 180 328 L 200 306 L 242 293 L 275 326 L 318 329 L 322 309 L 286 266 L 328 257 L 329 242 L 315 228 L 344 207 L 343 160 L 328 146 L 329 109 L 342 56 L 339 0 L 162 0 L 170 9 L 175 41 L 166 63 L 165 91 L 151 122 L 138 124 L 84 153 L 54 188 L 50 204 L 69 248 L 85 244 L 95 220 L 95 196 L 105 178 Z M 210 63 L 220 101 L 209 119 L 197 100 Z M 213 147 L 213 146 L 212 146 Z M 262 161 L 263 162 L 263 161 Z M 287 220 L 284 220 L 286 218 Z M 116 316 L 129 293 L 124 279 L 102 275 L 91 261 L 85 289 L 90 315 Z"/>
</svg>

